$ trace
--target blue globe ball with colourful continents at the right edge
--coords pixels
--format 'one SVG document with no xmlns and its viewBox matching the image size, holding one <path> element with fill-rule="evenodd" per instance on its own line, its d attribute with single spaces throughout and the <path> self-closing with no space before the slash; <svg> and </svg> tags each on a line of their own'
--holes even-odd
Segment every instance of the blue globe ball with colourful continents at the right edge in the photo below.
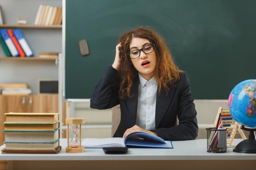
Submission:
<svg viewBox="0 0 256 170">
<path fill-rule="evenodd" d="M 256 127 L 256 79 L 237 84 L 228 99 L 229 111 L 235 121 L 244 126 Z"/>
</svg>

